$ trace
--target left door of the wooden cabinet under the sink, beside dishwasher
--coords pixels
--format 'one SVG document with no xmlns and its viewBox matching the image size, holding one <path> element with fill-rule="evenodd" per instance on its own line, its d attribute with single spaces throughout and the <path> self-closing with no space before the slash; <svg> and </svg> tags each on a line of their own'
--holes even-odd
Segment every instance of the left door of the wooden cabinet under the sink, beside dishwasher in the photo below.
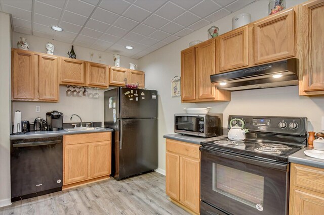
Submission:
<svg viewBox="0 0 324 215">
<path fill-rule="evenodd" d="M 65 145 L 64 182 L 71 184 L 89 178 L 89 144 Z"/>
</svg>

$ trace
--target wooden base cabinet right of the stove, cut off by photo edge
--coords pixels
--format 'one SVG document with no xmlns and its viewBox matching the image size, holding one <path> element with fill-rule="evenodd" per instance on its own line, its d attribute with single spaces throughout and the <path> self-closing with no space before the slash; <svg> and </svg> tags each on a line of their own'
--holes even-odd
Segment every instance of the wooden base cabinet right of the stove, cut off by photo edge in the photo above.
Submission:
<svg viewBox="0 0 324 215">
<path fill-rule="evenodd" d="M 291 164 L 289 214 L 324 213 L 324 169 Z"/>
</svg>

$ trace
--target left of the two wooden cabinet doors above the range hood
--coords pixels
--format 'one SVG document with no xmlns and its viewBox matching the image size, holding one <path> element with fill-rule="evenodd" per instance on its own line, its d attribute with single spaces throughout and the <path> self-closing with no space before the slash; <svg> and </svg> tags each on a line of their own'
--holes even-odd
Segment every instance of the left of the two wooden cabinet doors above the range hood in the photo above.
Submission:
<svg viewBox="0 0 324 215">
<path fill-rule="evenodd" d="M 219 71 L 248 66 L 248 26 L 219 36 Z"/>
</svg>

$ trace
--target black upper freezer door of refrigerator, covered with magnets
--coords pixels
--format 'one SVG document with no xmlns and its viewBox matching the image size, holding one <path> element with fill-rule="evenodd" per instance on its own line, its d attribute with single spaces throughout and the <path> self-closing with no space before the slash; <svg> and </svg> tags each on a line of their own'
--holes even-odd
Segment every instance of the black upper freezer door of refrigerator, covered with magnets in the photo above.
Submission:
<svg viewBox="0 0 324 215">
<path fill-rule="evenodd" d="M 157 91 L 119 88 L 120 119 L 157 118 Z"/>
</svg>

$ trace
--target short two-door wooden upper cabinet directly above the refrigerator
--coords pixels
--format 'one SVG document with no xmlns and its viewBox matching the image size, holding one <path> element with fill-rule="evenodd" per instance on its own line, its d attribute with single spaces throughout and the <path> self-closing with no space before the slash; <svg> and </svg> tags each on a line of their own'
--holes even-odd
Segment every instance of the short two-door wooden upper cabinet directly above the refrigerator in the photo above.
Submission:
<svg viewBox="0 0 324 215">
<path fill-rule="evenodd" d="M 144 88 L 144 72 L 121 67 L 109 67 L 109 85 L 125 86 L 125 78 L 128 84 L 139 83 L 139 88 Z"/>
</svg>

